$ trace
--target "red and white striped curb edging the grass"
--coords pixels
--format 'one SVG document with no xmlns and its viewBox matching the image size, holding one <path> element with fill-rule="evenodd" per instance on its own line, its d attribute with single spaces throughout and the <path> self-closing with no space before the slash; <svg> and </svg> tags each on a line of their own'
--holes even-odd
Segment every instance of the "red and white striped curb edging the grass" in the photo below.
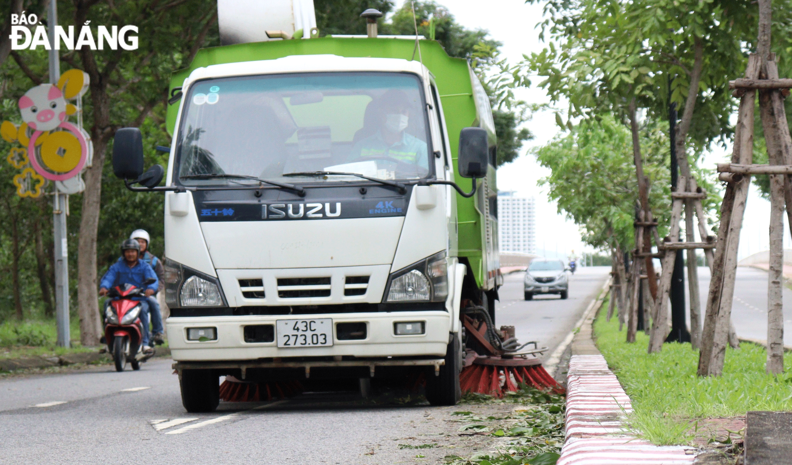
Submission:
<svg viewBox="0 0 792 465">
<path fill-rule="evenodd" d="M 573 355 L 566 388 L 566 441 L 557 465 L 690 465 L 695 448 L 656 446 L 624 428 L 630 398 L 602 355 Z"/>
</svg>

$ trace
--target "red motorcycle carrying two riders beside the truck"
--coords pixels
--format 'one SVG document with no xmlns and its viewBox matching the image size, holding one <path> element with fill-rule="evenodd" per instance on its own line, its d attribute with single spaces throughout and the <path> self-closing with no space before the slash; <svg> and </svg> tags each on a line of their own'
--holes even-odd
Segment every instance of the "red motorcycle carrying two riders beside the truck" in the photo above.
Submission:
<svg viewBox="0 0 792 465">
<path fill-rule="evenodd" d="M 154 282 L 147 279 L 144 285 Z M 143 353 L 143 322 L 140 321 L 140 312 L 143 305 L 132 297 L 146 297 L 146 289 L 135 285 L 116 285 L 109 289 L 110 297 L 105 301 L 105 343 L 108 353 L 112 353 L 116 362 L 116 372 L 123 372 L 127 362 L 133 370 L 140 369 L 140 362 L 147 361 L 154 356 L 154 350 Z"/>
</svg>

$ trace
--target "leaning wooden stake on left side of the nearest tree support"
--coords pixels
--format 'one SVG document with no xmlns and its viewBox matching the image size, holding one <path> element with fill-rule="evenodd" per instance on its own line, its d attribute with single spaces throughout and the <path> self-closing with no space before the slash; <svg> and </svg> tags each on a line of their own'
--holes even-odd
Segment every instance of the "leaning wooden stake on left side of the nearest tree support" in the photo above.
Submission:
<svg viewBox="0 0 792 465">
<path fill-rule="evenodd" d="M 745 70 L 745 77 L 756 79 L 759 75 L 759 56 L 752 54 L 748 57 L 748 67 Z M 734 149 L 732 153 L 732 163 L 741 163 L 743 160 L 752 161 L 753 155 L 753 118 L 756 91 L 748 90 L 741 97 L 740 110 L 737 113 L 737 130 L 734 136 Z M 725 259 L 730 236 L 734 233 L 732 227 L 733 218 L 740 217 L 742 225 L 742 214 L 744 210 L 737 210 L 736 206 L 740 199 L 748 193 L 748 185 L 751 182 L 750 176 L 745 176 L 740 183 L 728 183 L 721 203 L 721 227 L 718 228 L 718 248 L 715 249 L 713 262 L 711 265 L 712 278 L 710 279 L 710 292 L 706 300 L 706 314 L 704 316 L 704 327 L 701 337 L 701 351 L 699 352 L 699 376 L 719 375 L 722 372 L 722 363 L 714 361 L 715 353 L 721 350 L 724 338 L 718 333 L 718 326 L 725 325 L 725 321 L 731 320 L 731 299 L 729 299 L 728 319 L 722 321 L 722 295 L 725 291 Z M 703 212 L 702 212 L 703 216 Z M 739 234 L 740 229 L 736 229 Z M 734 253 L 737 249 L 734 248 Z M 733 289 L 733 286 L 732 286 Z M 722 330 L 721 330 L 722 331 Z M 718 344 L 716 345 L 716 340 Z M 723 348 L 725 350 L 725 347 Z M 722 360 L 722 359 L 721 359 Z"/>
</svg>

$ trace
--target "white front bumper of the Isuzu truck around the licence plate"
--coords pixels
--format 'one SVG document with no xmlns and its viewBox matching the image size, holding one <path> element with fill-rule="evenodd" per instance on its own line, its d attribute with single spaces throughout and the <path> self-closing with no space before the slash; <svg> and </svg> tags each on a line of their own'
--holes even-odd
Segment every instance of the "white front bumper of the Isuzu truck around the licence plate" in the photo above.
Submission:
<svg viewBox="0 0 792 465">
<path fill-rule="evenodd" d="M 278 319 L 333 319 L 333 346 L 278 347 L 245 342 L 246 325 L 275 324 Z M 424 322 L 422 335 L 394 335 L 394 323 Z M 366 323 L 366 338 L 338 340 L 336 323 Z M 254 361 L 287 357 L 444 357 L 451 317 L 447 312 L 331 313 L 322 315 L 170 317 L 166 321 L 174 361 Z M 217 339 L 188 341 L 189 327 L 216 327 Z"/>
</svg>

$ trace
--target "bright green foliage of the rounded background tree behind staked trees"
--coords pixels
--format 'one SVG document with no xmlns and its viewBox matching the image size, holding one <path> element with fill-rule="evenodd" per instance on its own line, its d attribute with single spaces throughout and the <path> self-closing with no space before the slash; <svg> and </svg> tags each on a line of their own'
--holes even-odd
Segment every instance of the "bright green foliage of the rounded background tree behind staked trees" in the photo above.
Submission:
<svg viewBox="0 0 792 465">
<path fill-rule="evenodd" d="M 640 141 L 645 176 L 649 176 L 649 203 L 660 223 L 658 232 L 665 236 L 671 209 L 668 134 L 663 125 L 645 121 Z M 606 249 L 634 246 L 638 182 L 630 130 L 613 115 L 600 115 L 599 120 L 584 120 L 535 153 L 539 164 L 552 172 L 540 185 L 558 202 L 558 212 L 581 227 L 584 242 Z M 710 193 L 703 200 L 705 208 L 717 206 L 720 198 L 708 181 L 712 173 L 695 170 L 694 176 Z"/>
</svg>

